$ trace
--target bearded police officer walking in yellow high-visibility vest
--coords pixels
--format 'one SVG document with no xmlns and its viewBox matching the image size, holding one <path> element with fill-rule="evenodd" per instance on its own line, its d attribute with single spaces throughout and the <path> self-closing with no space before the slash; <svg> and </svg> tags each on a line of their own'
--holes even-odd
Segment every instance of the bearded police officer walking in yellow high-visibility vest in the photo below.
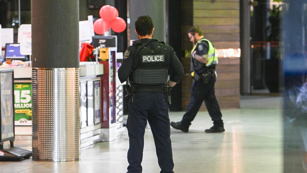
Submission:
<svg viewBox="0 0 307 173">
<path fill-rule="evenodd" d="M 187 111 L 180 122 L 171 122 L 171 126 L 183 132 L 188 132 L 202 102 L 205 102 L 213 126 L 206 133 L 223 132 L 224 124 L 220 106 L 217 103 L 214 84 L 216 82 L 215 67 L 218 63 L 213 44 L 204 38 L 201 29 L 193 26 L 188 30 L 190 41 L 195 44 L 191 51 L 192 93 Z"/>
</svg>

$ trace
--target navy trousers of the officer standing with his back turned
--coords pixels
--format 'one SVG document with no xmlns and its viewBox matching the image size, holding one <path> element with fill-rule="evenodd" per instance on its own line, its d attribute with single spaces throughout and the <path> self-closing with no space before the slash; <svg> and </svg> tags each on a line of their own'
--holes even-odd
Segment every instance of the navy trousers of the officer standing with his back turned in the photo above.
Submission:
<svg viewBox="0 0 307 173">
<path fill-rule="evenodd" d="M 141 173 L 144 133 L 148 123 L 153 134 L 160 173 L 173 173 L 173 153 L 170 139 L 169 109 L 165 94 L 157 91 L 140 91 L 128 102 L 127 129 L 129 150 L 127 173 Z"/>
</svg>

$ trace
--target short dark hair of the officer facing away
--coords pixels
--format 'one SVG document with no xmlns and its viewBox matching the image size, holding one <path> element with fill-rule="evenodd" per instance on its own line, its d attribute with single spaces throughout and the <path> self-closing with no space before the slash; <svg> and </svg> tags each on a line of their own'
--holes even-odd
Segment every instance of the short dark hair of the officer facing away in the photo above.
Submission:
<svg viewBox="0 0 307 173">
<path fill-rule="evenodd" d="M 150 35 L 153 30 L 153 20 L 149 16 L 140 16 L 135 21 L 135 30 L 140 36 Z"/>
</svg>

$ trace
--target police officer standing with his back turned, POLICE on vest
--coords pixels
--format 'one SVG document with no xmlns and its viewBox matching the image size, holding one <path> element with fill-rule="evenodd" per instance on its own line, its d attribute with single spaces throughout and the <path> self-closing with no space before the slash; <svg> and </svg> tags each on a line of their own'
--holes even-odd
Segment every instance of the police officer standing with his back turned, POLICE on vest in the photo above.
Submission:
<svg viewBox="0 0 307 173">
<path fill-rule="evenodd" d="M 153 133 L 161 173 L 173 173 L 173 154 L 170 139 L 168 89 L 181 80 L 183 67 L 173 48 L 152 38 L 153 21 L 140 16 L 135 22 L 139 40 L 124 52 L 118 70 L 119 80 L 129 77 L 127 129 L 129 150 L 127 173 L 142 172 L 144 133 L 147 120 Z M 168 80 L 168 68 L 173 70 Z M 168 83 L 167 86 L 165 83 Z"/>
</svg>

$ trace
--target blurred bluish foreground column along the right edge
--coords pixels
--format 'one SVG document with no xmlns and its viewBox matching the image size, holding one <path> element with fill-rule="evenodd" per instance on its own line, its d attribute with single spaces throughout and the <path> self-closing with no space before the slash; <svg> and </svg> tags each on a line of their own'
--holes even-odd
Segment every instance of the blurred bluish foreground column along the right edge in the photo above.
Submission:
<svg viewBox="0 0 307 173">
<path fill-rule="evenodd" d="M 306 0 L 282 6 L 285 173 L 307 171 L 306 7 Z"/>
</svg>

